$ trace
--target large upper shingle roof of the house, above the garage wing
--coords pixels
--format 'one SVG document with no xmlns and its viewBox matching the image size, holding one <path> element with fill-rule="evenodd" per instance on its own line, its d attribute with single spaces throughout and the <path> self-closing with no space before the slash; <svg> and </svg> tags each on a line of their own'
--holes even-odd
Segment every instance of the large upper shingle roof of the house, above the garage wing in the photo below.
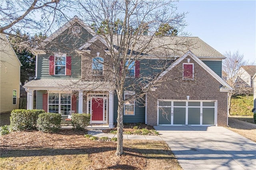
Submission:
<svg viewBox="0 0 256 170">
<path fill-rule="evenodd" d="M 152 40 L 150 40 L 152 39 Z M 114 36 L 114 43 L 118 46 L 118 38 Z M 150 42 L 150 43 L 148 43 Z M 147 47 L 142 51 L 148 55 L 179 55 L 182 56 L 189 50 L 197 57 L 226 58 L 216 49 L 205 43 L 198 37 L 178 36 L 142 36 L 136 43 L 134 51 L 140 51 L 145 44 Z"/>
</svg>

